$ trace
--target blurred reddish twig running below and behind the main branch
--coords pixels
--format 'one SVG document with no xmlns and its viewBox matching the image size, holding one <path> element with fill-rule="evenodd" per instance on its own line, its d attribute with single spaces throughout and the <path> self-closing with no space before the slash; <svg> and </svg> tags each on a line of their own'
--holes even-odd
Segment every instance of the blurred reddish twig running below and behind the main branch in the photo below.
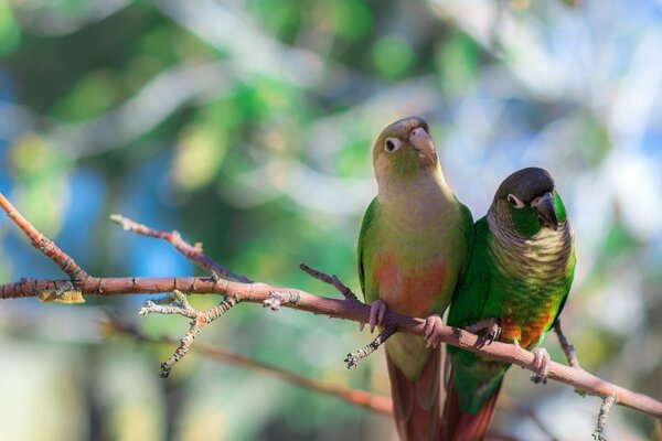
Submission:
<svg viewBox="0 0 662 441">
<path fill-rule="evenodd" d="M 150 343 L 150 344 L 174 344 L 175 341 L 172 338 L 163 337 L 160 340 L 151 338 L 143 333 L 141 333 L 135 326 L 125 323 L 117 318 L 110 316 L 108 322 L 105 322 L 110 326 L 110 331 L 115 331 L 121 333 L 124 335 L 132 336 L 140 342 Z M 371 392 L 366 392 L 364 390 L 351 389 L 342 386 L 337 386 L 329 384 L 327 381 L 320 381 L 312 378 L 307 378 L 301 375 L 297 375 L 292 372 L 282 369 L 280 367 L 270 365 L 268 363 L 258 362 L 256 359 L 233 354 L 227 351 L 223 351 L 217 347 L 207 346 L 204 344 L 196 344 L 192 347 L 193 352 L 199 353 L 203 356 L 210 357 L 212 359 L 233 364 L 236 366 L 241 366 L 250 370 L 260 372 L 267 375 L 271 375 L 274 377 L 280 378 L 284 381 L 288 381 L 296 386 L 302 387 L 308 390 L 330 395 L 333 397 L 341 398 L 346 402 L 360 406 L 366 409 L 370 409 L 375 412 L 391 415 L 393 409 L 393 402 L 388 397 L 382 397 L 380 395 L 374 395 Z"/>
</svg>

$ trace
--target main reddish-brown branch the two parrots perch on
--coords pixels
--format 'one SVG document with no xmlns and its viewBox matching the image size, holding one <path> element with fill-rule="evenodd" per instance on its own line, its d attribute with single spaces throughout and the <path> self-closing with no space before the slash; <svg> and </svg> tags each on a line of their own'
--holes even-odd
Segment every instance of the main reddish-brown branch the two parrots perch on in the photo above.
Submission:
<svg viewBox="0 0 662 441">
<path fill-rule="evenodd" d="M 39 234 L 28 220 L 20 216 L 15 208 L 13 208 L 4 197 L 0 197 L 0 205 L 8 212 L 8 215 L 21 226 L 23 232 L 25 232 L 31 239 L 33 234 L 36 233 L 38 236 L 34 237 L 41 238 L 41 241 L 35 241 L 34 239 L 32 241 L 38 249 L 42 250 L 41 244 L 45 237 Z M 54 244 L 49 249 L 49 254 L 43 250 L 42 252 L 55 261 L 63 270 L 65 270 L 65 268 L 71 269 L 75 266 L 73 260 L 73 266 L 72 263 L 62 265 L 63 261 L 68 262 L 71 258 Z M 75 266 L 75 268 L 78 267 Z M 288 293 L 288 295 L 281 297 L 281 300 L 285 301 L 281 301 L 280 305 L 360 323 L 367 322 L 370 318 L 370 306 L 351 299 L 331 299 L 298 289 L 276 287 L 261 282 L 243 283 L 215 277 L 95 278 L 87 276 L 82 269 L 76 273 L 86 276 L 76 287 L 84 295 L 158 293 L 179 290 L 188 294 L 222 294 L 225 295 L 225 299 L 232 299 L 234 303 L 249 302 L 265 304 L 265 301 L 273 299 L 274 293 Z M 0 299 L 39 297 L 40 293 L 53 291 L 62 286 L 62 283 L 66 282 L 68 282 L 68 280 L 21 279 L 15 283 L 0 286 Z M 425 320 L 423 319 L 409 318 L 387 311 L 384 320 L 385 323 L 392 323 L 394 326 L 397 326 L 398 332 L 424 335 Z M 485 345 L 484 338 L 451 326 L 445 326 L 441 330 L 439 340 L 446 344 L 461 347 L 484 357 L 511 363 L 535 372 L 534 355 L 515 345 L 501 342 L 493 342 Z M 609 383 L 587 373 L 580 367 L 570 367 L 552 362 L 549 363 L 547 378 L 573 386 L 575 389 L 586 395 L 598 396 L 601 398 L 613 396 L 616 402 L 620 406 L 626 406 L 658 419 L 662 419 L 662 402 L 647 395 L 638 394 Z"/>
</svg>

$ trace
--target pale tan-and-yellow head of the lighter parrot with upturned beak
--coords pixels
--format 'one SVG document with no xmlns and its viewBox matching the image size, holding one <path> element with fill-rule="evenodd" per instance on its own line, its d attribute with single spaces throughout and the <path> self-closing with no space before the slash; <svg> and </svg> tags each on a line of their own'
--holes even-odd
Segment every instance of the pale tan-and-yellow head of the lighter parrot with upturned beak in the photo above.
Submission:
<svg viewBox="0 0 662 441">
<path fill-rule="evenodd" d="M 439 169 L 428 123 L 423 118 L 408 117 L 388 125 L 375 141 L 373 165 L 377 181 L 415 178 Z"/>
</svg>

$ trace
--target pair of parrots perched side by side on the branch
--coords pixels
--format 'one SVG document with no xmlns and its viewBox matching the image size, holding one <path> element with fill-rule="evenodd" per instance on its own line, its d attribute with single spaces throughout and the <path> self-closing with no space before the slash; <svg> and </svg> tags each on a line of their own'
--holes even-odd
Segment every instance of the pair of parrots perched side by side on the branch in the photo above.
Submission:
<svg viewBox="0 0 662 441">
<path fill-rule="evenodd" d="M 555 323 L 573 281 L 575 254 L 566 212 L 549 173 L 520 170 L 499 186 L 476 222 L 452 194 L 428 125 L 409 117 L 384 129 L 373 148 L 378 194 L 359 237 L 359 278 L 371 330 L 386 309 L 426 319 L 425 337 L 386 342 L 396 427 L 402 440 L 483 438 L 508 364 L 448 347 L 450 375 L 440 408 L 441 315 L 448 324 L 533 349 Z M 538 363 L 540 362 L 540 363 Z"/>
</svg>

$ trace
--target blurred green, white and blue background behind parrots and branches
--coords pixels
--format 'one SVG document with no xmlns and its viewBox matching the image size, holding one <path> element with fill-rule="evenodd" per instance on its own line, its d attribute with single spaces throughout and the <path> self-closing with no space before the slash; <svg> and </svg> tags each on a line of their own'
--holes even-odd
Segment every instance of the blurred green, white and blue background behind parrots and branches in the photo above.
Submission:
<svg viewBox="0 0 662 441">
<path fill-rule="evenodd" d="M 577 239 L 566 333 L 585 368 L 662 398 L 662 2 L 0 4 L 0 191 L 90 273 L 200 273 L 108 222 L 120 213 L 253 279 L 338 295 L 303 261 L 357 290 L 372 142 L 419 115 L 476 218 L 512 171 L 552 172 Z M 62 278 L 7 218 L 0 243 L 0 282 Z M 185 319 L 138 320 L 146 298 L 3 301 L 0 439 L 395 439 L 386 417 L 193 354 L 160 379 L 173 347 L 98 325 L 114 311 L 180 337 Z M 342 362 L 370 341 L 354 323 L 246 305 L 197 340 L 388 394 L 381 354 Z M 563 361 L 555 335 L 545 346 Z M 589 439 L 597 398 L 506 378 L 492 439 Z M 652 430 L 618 407 L 607 435 Z"/>
</svg>

